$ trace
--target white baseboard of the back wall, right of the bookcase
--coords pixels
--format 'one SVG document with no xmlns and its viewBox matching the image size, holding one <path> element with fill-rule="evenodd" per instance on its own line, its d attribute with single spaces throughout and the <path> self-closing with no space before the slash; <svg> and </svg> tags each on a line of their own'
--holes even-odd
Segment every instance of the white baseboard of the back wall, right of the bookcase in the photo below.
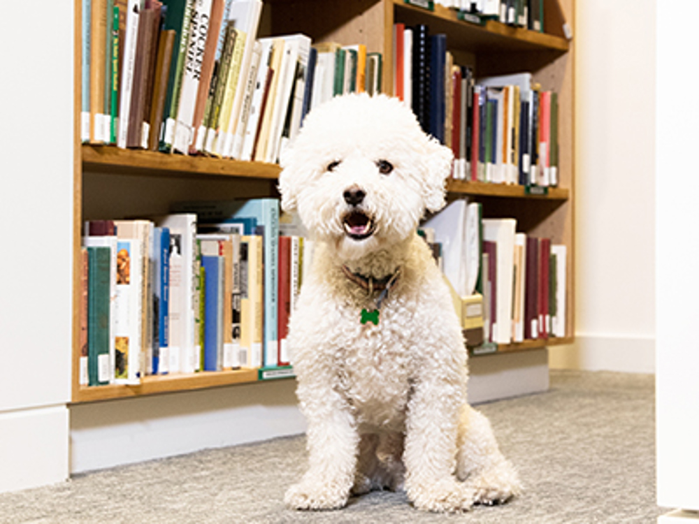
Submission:
<svg viewBox="0 0 699 524">
<path fill-rule="evenodd" d="M 655 373 L 655 338 L 575 335 L 575 343 L 550 348 L 552 369 Z"/>
</svg>

